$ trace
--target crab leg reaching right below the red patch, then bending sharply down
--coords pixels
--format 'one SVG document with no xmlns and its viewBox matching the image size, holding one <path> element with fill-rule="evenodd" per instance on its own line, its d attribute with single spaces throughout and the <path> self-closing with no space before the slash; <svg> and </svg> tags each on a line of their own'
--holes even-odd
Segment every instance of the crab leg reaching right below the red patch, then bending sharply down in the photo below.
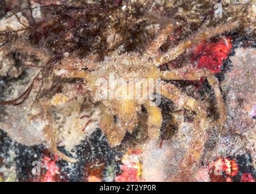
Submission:
<svg viewBox="0 0 256 194">
<path fill-rule="evenodd" d="M 198 80 L 207 78 L 207 81 L 214 89 L 215 99 L 217 102 L 219 117 L 217 121 L 212 122 L 212 126 L 223 124 L 226 121 L 226 109 L 224 107 L 223 97 L 220 92 L 218 79 L 207 69 L 195 69 L 194 67 L 184 67 L 181 69 L 173 69 L 171 71 L 161 72 L 161 79 L 166 80 Z"/>
</svg>

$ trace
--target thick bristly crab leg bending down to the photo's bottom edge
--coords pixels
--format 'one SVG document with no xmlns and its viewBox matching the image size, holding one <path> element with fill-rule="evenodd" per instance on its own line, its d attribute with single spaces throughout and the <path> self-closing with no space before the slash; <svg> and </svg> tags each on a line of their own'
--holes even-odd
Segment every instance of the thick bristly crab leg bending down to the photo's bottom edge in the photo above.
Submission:
<svg viewBox="0 0 256 194">
<path fill-rule="evenodd" d="M 204 150 L 204 143 L 207 138 L 207 122 L 206 108 L 196 99 L 182 93 L 172 84 L 161 84 L 161 95 L 169 98 L 174 104 L 185 109 L 194 110 L 197 116 L 194 119 L 195 130 L 192 139 L 189 142 L 189 150 L 179 162 L 180 173 L 173 178 L 173 181 L 191 180 L 191 169 L 200 161 L 200 156 Z"/>
</svg>

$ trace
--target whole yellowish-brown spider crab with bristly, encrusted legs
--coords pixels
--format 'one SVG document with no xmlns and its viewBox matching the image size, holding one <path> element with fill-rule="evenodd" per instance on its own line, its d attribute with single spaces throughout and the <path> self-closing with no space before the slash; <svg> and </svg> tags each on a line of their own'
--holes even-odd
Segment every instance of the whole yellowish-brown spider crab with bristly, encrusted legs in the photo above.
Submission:
<svg viewBox="0 0 256 194">
<path fill-rule="evenodd" d="M 121 143 L 127 130 L 132 132 L 136 125 L 140 122 L 140 116 L 138 112 L 141 111 L 141 107 L 146 108 L 149 138 L 157 138 L 160 132 L 162 124 L 162 115 L 160 108 L 153 102 L 152 94 L 158 93 L 158 95 L 164 96 L 174 102 L 178 107 L 194 111 L 197 116 L 194 119 L 194 135 L 189 142 L 189 150 L 180 161 L 180 173 L 174 180 L 184 180 L 189 176 L 190 169 L 198 164 L 201 153 L 204 149 L 204 142 L 206 141 L 207 129 L 214 125 L 221 125 L 226 119 L 226 111 L 224 107 L 223 98 L 219 89 L 218 79 L 207 69 L 195 69 L 192 65 L 187 65 L 182 69 L 173 69 L 161 72 L 158 69 L 158 65 L 164 64 L 170 60 L 173 60 L 180 56 L 187 48 L 198 42 L 212 38 L 213 36 L 220 35 L 238 27 L 238 22 L 230 22 L 224 25 L 218 25 L 217 27 L 200 28 L 196 33 L 190 35 L 188 38 L 181 41 L 175 47 L 170 48 L 165 53 L 159 51 L 161 45 L 163 45 L 167 36 L 172 32 L 174 25 L 167 24 L 162 27 L 156 38 L 147 45 L 143 53 L 123 53 L 118 55 L 116 52 L 107 56 L 102 62 L 93 62 L 89 59 L 76 59 L 65 58 L 58 63 L 53 69 L 53 73 L 57 76 L 64 78 L 83 78 L 84 83 L 87 85 L 87 89 L 90 91 L 95 101 L 101 102 L 99 108 L 101 109 L 101 118 L 99 119 L 99 127 L 107 135 L 110 146 L 117 146 Z M 16 48 L 17 49 L 17 48 Z M 40 58 L 40 56 L 39 56 Z M 87 67 L 92 67 L 87 70 Z M 115 75 L 117 78 L 122 78 L 122 82 L 110 82 L 110 76 Z M 212 121 L 207 118 L 207 110 L 201 101 L 198 101 L 185 93 L 175 85 L 164 82 L 164 80 L 198 80 L 200 78 L 207 78 L 207 81 L 211 85 L 215 93 L 215 101 L 218 107 L 218 119 Z M 107 82 L 101 82 L 99 79 L 104 79 Z M 156 90 L 149 84 L 149 79 L 153 82 L 160 80 L 160 90 Z M 141 81 L 142 80 L 142 81 Z M 36 81 L 36 80 L 34 80 Z M 117 90 L 122 95 L 127 92 L 127 83 L 146 85 L 146 87 L 140 87 L 139 90 L 129 90 L 132 98 L 102 98 L 106 95 L 107 89 L 111 87 L 113 93 Z M 103 87 L 104 86 L 104 87 Z M 99 87 L 101 90 L 99 92 Z M 144 90 L 143 90 L 144 89 Z M 31 89 L 30 89 L 31 90 Z M 147 92 L 149 98 L 135 98 L 136 95 L 143 95 Z M 58 98 L 58 96 L 53 96 Z M 52 118 L 49 111 L 52 107 L 53 99 L 40 99 L 42 107 L 42 115 L 48 121 L 45 126 L 45 133 L 48 136 L 49 142 L 47 142 L 52 149 L 53 153 L 61 156 L 70 162 L 75 162 L 75 159 L 69 158 L 63 153 L 59 152 L 56 146 L 55 135 L 52 130 Z M 1 104 L 10 104 L 10 101 L 1 102 Z M 57 103 L 58 104 L 58 103 Z"/>
</svg>

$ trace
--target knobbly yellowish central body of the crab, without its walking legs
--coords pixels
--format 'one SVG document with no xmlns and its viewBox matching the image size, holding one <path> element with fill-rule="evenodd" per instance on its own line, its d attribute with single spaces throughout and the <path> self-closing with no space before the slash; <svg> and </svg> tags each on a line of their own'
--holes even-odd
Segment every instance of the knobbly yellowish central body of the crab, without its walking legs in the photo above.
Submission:
<svg viewBox="0 0 256 194">
<path fill-rule="evenodd" d="M 141 110 L 141 105 L 153 99 L 152 95 L 157 86 L 155 84 L 157 79 L 160 80 L 160 70 L 152 61 L 150 58 L 141 57 L 138 53 L 124 53 L 100 62 L 95 71 L 86 76 L 93 98 L 101 102 L 99 107 L 103 114 L 99 125 L 106 133 L 110 146 L 119 145 L 127 130 L 133 132 L 138 125 L 137 112 Z M 149 84 L 150 81 L 155 84 Z M 133 85 L 131 90 L 128 86 L 130 84 Z M 146 98 L 136 96 L 143 96 L 145 93 L 147 93 Z M 123 95 L 124 98 L 120 97 Z M 160 110 L 157 107 L 152 110 L 155 114 L 151 118 L 155 120 L 153 123 L 161 125 Z M 157 136 L 159 127 L 153 133 Z"/>
</svg>

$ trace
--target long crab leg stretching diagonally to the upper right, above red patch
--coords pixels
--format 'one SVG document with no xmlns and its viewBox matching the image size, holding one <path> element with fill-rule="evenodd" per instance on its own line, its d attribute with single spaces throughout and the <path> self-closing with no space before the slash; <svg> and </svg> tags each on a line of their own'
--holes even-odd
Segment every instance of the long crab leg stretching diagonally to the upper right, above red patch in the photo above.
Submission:
<svg viewBox="0 0 256 194">
<path fill-rule="evenodd" d="M 180 42 L 180 44 L 167 50 L 166 53 L 164 53 L 162 56 L 160 56 L 160 58 L 157 59 L 157 62 L 163 64 L 168 61 L 171 61 L 180 56 L 184 52 L 184 50 L 188 49 L 190 46 L 198 44 L 200 41 L 203 41 L 204 39 L 209 39 L 213 36 L 220 35 L 229 30 L 233 30 L 237 27 L 239 27 L 238 21 L 218 25 L 217 27 L 201 28 L 196 33 L 190 35 L 189 37 L 184 39 L 184 41 Z"/>
</svg>

